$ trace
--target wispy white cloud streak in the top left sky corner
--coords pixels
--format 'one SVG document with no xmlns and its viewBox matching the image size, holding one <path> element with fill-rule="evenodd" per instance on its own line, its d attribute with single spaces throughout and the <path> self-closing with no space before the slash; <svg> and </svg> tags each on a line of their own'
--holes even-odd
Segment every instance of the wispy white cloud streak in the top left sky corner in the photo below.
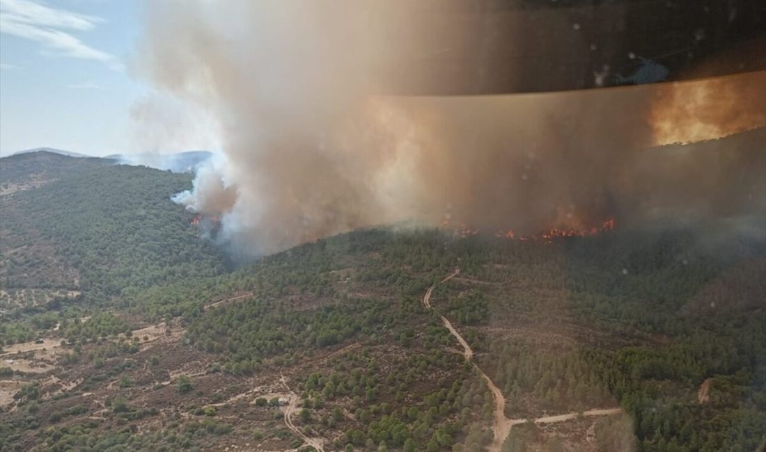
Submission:
<svg viewBox="0 0 766 452">
<path fill-rule="evenodd" d="M 0 13 L 0 33 L 37 42 L 45 50 L 64 57 L 97 60 L 113 70 L 124 68 L 114 55 L 62 31 L 88 31 L 103 22 L 102 18 L 50 8 L 30 0 L 0 0 Z"/>
</svg>

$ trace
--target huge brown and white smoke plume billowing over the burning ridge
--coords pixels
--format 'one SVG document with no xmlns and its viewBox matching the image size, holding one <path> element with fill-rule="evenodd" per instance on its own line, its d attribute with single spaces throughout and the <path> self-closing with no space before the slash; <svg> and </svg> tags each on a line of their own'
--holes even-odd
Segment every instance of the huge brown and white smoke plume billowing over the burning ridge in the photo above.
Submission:
<svg viewBox="0 0 766 452">
<path fill-rule="evenodd" d="M 662 131 L 676 131 L 680 115 L 666 112 L 686 102 L 672 95 L 686 83 L 381 96 L 398 76 L 394 54 L 438 52 L 440 37 L 452 33 L 413 23 L 410 3 L 149 5 L 142 70 L 159 89 L 211 112 L 222 131 L 224 156 L 175 200 L 221 215 L 221 238 L 252 255 L 402 220 L 534 233 L 589 228 L 610 216 L 640 224 L 681 211 L 690 220 L 766 212 L 762 134 L 730 152 L 642 151 L 685 139 Z M 746 78 L 744 109 L 728 102 L 722 111 L 712 93 L 696 112 L 748 119 L 715 128 L 720 135 L 764 125 L 766 96 L 752 96 L 764 80 Z M 741 92 L 738 83 L 732 93 Z"/>
</svg>

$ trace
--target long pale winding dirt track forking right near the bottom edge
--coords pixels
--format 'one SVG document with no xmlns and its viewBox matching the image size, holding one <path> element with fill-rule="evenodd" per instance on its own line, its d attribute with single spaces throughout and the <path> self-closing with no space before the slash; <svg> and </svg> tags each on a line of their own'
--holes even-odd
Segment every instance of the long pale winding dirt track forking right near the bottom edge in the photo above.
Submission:
<svg viewBox="0 0 766 452">
<path fill-rule="evenodd" d="M 452 272 L 450 275 L 448 275 L 446 278 L 442 279 L 439 284 L 443 284 L 450 279 L 456 277 L 460 274 L 460 268 L 455 268 L 455 271 Z M 423 306 L 426 309 L 433 310 L 434 308 L 430 305 L 430 297 L 431 294 L 434 292 L 434 288 L 436 288 L 436 285 L 430 286 L 426 293 L 423 296 Z M 465 339 L 463 339 L 462 336 L 460 336 L 460 333 L 457 332 L 455 327 L 453 327 L 450 320 L 447 320 L 447 317 L 439 316 L 441 318 L 441 322 L 444 324 L 444 327 L 447 327 L 447 330 L 450 330 L 450 333 L 457 339 L 457 342 L 460 343 L 461 346 L 463 346 L 463 357 L 466 359 L 466 361 L 469 361 L 471 364 L 473 364 L 473 368 L 476 369 L 486 381 L 486 385 L 489 386 L 489 391 L 492 392 L 493 398 L 495 399 L 495 409 L 493 411 L 493 441 L 492 444 L 489 445 L 489 452 L 499 452 L 500 448 L 502 447 L 502 443 L 506 441 L 506 437 L 508 437 L 509 432 L 511 431 L 511 428 L 514 425 L 517 424 L 524 424 L 527 422 L 526 419 L 510 419 L 506 417 L 506 398 L 502 395 L 502 392 L 500 392 L 500 389 L 493 383 L 492 379 L 489 378 L 489 376 L 484 373 L 484 371 L 479 367 L 476 366 L 476 363 L 473 362 L 473 350 L 471 350 L 471 347 L 468 345 Z M 605 416 L 605 415 L 614 415 L 617 413 L 620 413 L 622 411 L 620 408 L 604 408 L 604 409 L 593 409 L 590 411 L 584 411 L 582 413 L 583 416 Z M 554 422 L 562 422 L 562 421 L 569 421 L 571 419 L 576 419 L 580 413 L 567 413 L 564 415 L 555 415 L 555 416 L 545 416 L 542 418 L 537 418 L 533 420 L 535 424 L 552 424 Z"/>
</svg>

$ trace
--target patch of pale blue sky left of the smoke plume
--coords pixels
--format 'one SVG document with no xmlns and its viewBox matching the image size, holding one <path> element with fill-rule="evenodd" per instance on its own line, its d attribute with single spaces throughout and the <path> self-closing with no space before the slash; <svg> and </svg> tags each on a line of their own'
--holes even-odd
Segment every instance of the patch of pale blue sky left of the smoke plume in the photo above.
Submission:
<svg viewBox="0 0 766 452">
<path fill-rule="evenodd" d="M 141 9 L 133 0 L 0 0 L 0 154 L 145 150 L 129 115 L 151 92 L 129 69 Z"/>
</svg>

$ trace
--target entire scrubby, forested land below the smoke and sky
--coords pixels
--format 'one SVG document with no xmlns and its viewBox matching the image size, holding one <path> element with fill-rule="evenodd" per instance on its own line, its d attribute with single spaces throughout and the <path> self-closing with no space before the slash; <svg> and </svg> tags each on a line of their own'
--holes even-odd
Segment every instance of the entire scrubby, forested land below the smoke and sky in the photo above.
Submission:
<svg viewBox="0 0 766 452">
<path fill-rule="evenodd" d="M 231 268 L 169 200 L 190 184 L 96 166 L 2 198 L 0 450 L 762 441 L 761 242 L 375 228 Z"/>
</svg>

